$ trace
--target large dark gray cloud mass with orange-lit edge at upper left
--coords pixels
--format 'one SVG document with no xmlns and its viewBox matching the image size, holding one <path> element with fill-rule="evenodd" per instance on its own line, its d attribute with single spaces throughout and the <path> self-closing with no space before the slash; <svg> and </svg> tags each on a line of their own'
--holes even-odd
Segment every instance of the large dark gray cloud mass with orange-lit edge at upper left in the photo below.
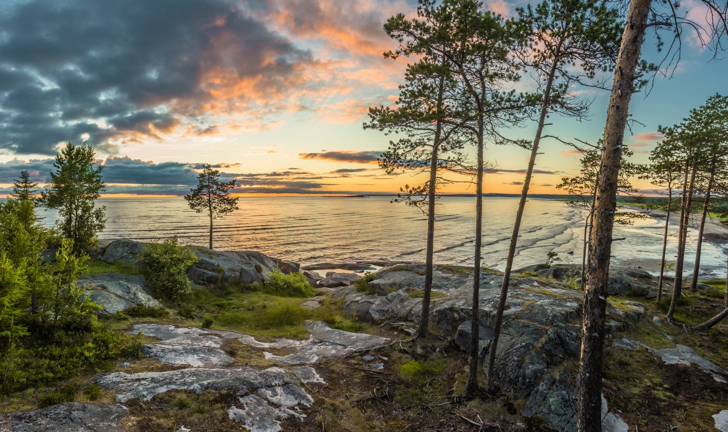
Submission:
<svg viewBox="0 0 728 432">
<path fill-rule="evenodd" d="M 233 0 L 31 0 L 0 5 L 0 151 L 105 152 L 296 88 L 309 52 Z M 267 107 L 275 109 L 274 106 Z"/>
</svg>

